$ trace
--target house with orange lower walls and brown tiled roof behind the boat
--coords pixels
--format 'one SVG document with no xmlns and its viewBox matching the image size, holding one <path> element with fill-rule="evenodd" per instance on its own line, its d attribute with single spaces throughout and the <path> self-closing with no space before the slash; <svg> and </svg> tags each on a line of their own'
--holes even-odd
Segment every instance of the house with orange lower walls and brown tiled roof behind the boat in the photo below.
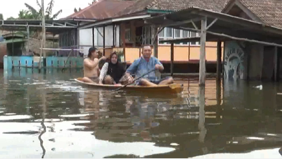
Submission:
<svg viewBox="0 0 282 159">
<path fill-rule="evenodd" d="M 94 5 L 98 5 L 104 1 L 106 2 L 109 0 L 101 0 Z M 217 12 L 221 12 L 225 4 L 227 4 L 227 0 L 221 0 L 221 2 L 217 1 L 216 3 L 213 2 L 213 0 L 206 1 L 211 1 L 211 3 L 208 4 L 212 4 L 213 6 L 207 5 L 205 8 L 213 8 L 213 10 Z M 113 48 L 110 50 L 116 51 L 124 50 L 125 61 L 131 63 L 134 61 L 134 59 L 140 57 L 140 46 L 152 44 L 153 41 L 154 28 L 145 24 L 143 18 L 172 12 L 175 10 L 181 10 L 190 5 L 202 6 L 202 3 L 199 3 L 199 1 L 181 0 L 137 0 L 130 6 L 121 9 L 120 12 L 117 12 L 111 17 L 99 17 L 100 19 L 93 17 L 93 19 L 96 19 L 96 21 L 92 23 L 81 24 L 79 27 L 80 39 L 83 37 L 83 40 L 80 40 L 80 48 L 86 48 L 84 50 L 85 54 L 87 53 L 87 46 L 90 47 L 93 44 L 99 48 Z M 87 8 L 83 10 L 87 10 Z M 82 14 L 81 12 L 83 12 L 83 10 L 75 14 Z M 105 10 L 108 10 L 108 8 Z M 92 9 L 92 11 L 94 12 L 95 10 Z M 82 16 L 80 18 L 82 18 Z M 90 17 L 88 16 L 87 18 Z M 105 46 L 103 46 L 103 27 L 105 27 Z M 94 30 L 93 33 L 92 30 Z M 94 35 L 94 38 L 92 34 Z M 164 28 L 158 34 L 158 39 L 161 40 L 194 36 L 198 36 L 198 34 L 195 32 L 187 32 L 173 28 Z M 198 41 L 175 44 L 174 59 L 180 63 L 197 63 L 199 60 L 199 49 L 200 47 Z M 168 63 L 170 61 L 169 44 L 159 42 L 158 50 L 158 58 L 162 62 Z M 211 42 L 206 44 L 206 50 L 208 54 L 211 55 L 207 56 L 207 61 L 215 63 L 216 43 Z"/>
</svg>

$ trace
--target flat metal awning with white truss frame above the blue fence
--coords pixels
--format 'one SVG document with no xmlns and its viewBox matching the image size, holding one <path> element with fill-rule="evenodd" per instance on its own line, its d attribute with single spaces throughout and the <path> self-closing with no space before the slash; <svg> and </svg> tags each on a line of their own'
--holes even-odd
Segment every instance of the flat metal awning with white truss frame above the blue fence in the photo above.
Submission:
<svg viewBox="0 0 282 159">
<path fill-rule="evenodd" d="M 76 20 L 45 20 L 46 32 L 61 32 L 78 27 L 80 21 Z M 9 31 L 40 31 L 41 20 L 0 20 L 0 30 Z"/>
</svg>

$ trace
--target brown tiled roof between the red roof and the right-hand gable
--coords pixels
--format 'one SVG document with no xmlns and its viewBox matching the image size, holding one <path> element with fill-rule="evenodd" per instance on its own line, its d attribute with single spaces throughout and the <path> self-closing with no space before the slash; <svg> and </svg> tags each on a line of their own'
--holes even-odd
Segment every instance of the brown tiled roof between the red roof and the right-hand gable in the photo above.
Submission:
<svg viewBox="0 0 282 159">
<path fill-rule="evenodd" d="M 228 0 L 137 0 L 116 16 L 150 10 L 177 11 L 191 6 L 221 12 Z"/>
</svg>

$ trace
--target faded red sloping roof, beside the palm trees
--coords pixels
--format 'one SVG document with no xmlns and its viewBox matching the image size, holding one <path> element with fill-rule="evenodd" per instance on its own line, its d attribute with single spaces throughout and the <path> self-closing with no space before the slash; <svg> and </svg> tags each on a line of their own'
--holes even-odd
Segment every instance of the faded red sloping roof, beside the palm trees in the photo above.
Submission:
<svg viewBox="0 0 282 159">
<path fill-rule="evenodd" d="M 68 17 L 80 19 L 105 19 L 113 17 L 117 12 L 124 10 L 126 7 L 132 5 L 133 1 L 125 0 L 100 0 L 86 8 L 76 12 Z"/>
</svg>

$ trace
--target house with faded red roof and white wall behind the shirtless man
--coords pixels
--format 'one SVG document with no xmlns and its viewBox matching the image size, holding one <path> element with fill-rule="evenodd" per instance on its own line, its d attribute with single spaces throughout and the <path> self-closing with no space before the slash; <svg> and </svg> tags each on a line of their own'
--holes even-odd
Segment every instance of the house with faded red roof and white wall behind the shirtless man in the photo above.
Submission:
<svg viewBox="0 0 282 159">
<path fill-rule="evenodd" d="M 116 13 L 124 10 L 130 5 L 133 5 L 133 1 L 123 1 L 123 0 L 101 0 L 92 5 L 76 12 L 62 20 L 79 19 L 81 21 L 79 25 L 85 25 L 89 22 L 94 22 L 102 19 L 109 19 L 114 17 Z M 93 30 L 93 33 L 92 33 Z M 114 28 L 116 35 L 115 45 L 119 45 L 119 26 Z M 94 34 L 94 36 L 93 36 Z M 113 26 L 105 27 L 105 43 L 106 47 L 113 46 Z M 94 40 L 93 40 L 94 39 Z M 74 41 L 74 42 L 72 42 Z M 79 43 L 77 44 L 77 41 Z M 79 47 L 84 55 L 88 54 L 88 49 L 92 46 L 103 47 L 103 28 L 89 28 L 71 30 L 69 32 L 63 32 L 59 34 L 59 46 L 60 48 L 71 48 Z M 108 52 L 109 53 L 109 52 Z"/>
</svg>

